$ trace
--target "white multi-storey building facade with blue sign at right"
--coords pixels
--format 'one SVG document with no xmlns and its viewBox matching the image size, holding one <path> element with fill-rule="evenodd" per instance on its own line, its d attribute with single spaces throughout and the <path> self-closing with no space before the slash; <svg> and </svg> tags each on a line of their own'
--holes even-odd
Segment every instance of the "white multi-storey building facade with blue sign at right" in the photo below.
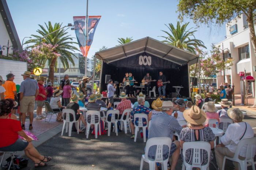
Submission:
<svg viewBox="0 0 256 170">
<path fill-rule="evenodd" d="M 250 39 L 250 31 L 246 16 L 241 15 L 226 24 L 226 36 L 223 41 L 215 45 L 224 49 L 224 58 L 227 60 L 228 54 L 231 54 L 233 66 L 230 70 L 225 70 L 225 82 L 234 84 L 234 93 L 240 94 L 240 72 L 245 72 L 246 76 L 256 77 L 254 67 L 256 58 Z M 222 48 L 223 47 L 223 48 Z M 222 54 L 221 54 L 222 55 Z M 224 82 L 223 71 L 217 75 L 217 87 Z M 249 92 L 254 93 L 255 84 L 249 83 Z M 254 95 L 254 94 L 253 94 Z"/>
</svg>

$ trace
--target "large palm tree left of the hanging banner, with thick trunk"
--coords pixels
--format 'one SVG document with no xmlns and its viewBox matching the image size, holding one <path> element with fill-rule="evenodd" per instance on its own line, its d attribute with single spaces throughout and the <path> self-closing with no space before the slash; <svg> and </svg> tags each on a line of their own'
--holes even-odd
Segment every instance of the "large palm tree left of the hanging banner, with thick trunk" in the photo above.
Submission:
<svg viewBox="0 0 256 170">
<path fill-rule="evenodd" d="M 39 24 L 38 24 L 39 25 Z M 31 35 L 35 37 L 35 39 L 30 39 L 25 42 L 27 43 L 33 43 L 33 46 L 39 45 L 39 39 L 41 37 L 46 36 L 47 34 L 56 31 L 57 29 L 61 28 L 60 23 L 55 23 L 54 26 L 50 21 L 48 21 L 48 25 L 45 23 L 45 27 L 43 25 L 39 25 L 41 29 L 38 29 L 37 32 L 39 35 Z M 72 46 L 72 44 L 77 44 L 76 42 L 73 42 L 73 38 L 70 37 L 70 35 L 67 35 L 68 32 L 66 32 L 67 29 L 60 29 L 59 31 L 56 31 L 49 36 L 46 36 L 41 40 L 41 43 L 46 43 L 46 44 L 52 44 L 53 46 L 56 47 L 56 53 L 61 54 L 60 56 L 60 61 L 63 64 L 64 68 L 69 68 L 68 66 L 68 61 L 70 61 L 73 66 L 75 65 L 74 60 L 72 59 L 72 56 L 75 56 L 73 52 L 75 50 L 78 50 L 76 47 Z M 33 47 L 30 46 L 30 47 Z M 75 56 L 76 57 L 76 56 Z M 45 63 L 46 59 L 42 62 Z M 51 81 L 54 80 L 54 67 L 57 68 L 57 57 L 56 58 L 50 58 L 48 59 L 48 64 L 49 64 L 49 79 Z"/>
</svg>

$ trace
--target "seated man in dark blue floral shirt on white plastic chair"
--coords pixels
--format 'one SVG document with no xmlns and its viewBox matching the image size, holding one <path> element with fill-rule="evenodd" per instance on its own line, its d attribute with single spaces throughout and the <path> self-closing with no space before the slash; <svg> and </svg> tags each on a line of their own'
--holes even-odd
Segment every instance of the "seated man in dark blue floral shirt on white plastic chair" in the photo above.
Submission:
<svg viewBox="0 0 256 170">
<path fill-rule="evenodd" d="M 145 99 L 143 97 L 139 97 L 138 103 L 139 103 L 139 106 L 138 107 L 134 107 L 133 110 L 131 111 L 131 119 L 132 119 L 132 121 L 130 123 L 131 131 L 132 131 L 131 138 L 135 137 L 135 135 L 134 135 L 134 131 L 135 131 L 134 114 L 136 114 L 136 113 L 144 113 L 144 114 L 148 115 L 149 112 L 151 111 L 150 108 L 144 106 Z M 143 126 L 147 126 L 146 119 L 143 118 L 142 120 L 143 120 Z M 136 123 L 136 125 L 138 125 L 138 119 L 135 120 L 135 123 Z"/>
</svg>

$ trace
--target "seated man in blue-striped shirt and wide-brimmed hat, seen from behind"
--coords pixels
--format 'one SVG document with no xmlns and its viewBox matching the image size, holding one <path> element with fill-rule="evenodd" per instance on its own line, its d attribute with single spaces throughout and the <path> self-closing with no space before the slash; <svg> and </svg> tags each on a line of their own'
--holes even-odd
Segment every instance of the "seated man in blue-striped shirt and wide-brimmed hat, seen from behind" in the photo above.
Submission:
<svg viewBox="0 0 256 170">
<path fill-rule="evenodd" d="M 182 127 L 178 123 L 178 121 L 172 116 L 173 110 L 178 110 L 174 108 L 173 103 L 171 101 L 163 101 L 162 113 L 159 113 L 158 116 L 154 116 L 151 119 L 150 129 L 148 132 L 148 139 L 150 138 L 171 138 L 173 141 L 173 132 L 177 132 L 180 134 Z M 148 151 L 148 157 L 154 159 L 155 148 L 153 146 Z M 178 158 L 180 154 L 180 142 L 174 141 L 172 142 L 170 149 L 170 157 L 172 157 L 172 165 L 171 170 L 175 170 Z M 168 149 L 167 146 L 163 146 L 163 159 L 168 157 Z"/>
</svg>

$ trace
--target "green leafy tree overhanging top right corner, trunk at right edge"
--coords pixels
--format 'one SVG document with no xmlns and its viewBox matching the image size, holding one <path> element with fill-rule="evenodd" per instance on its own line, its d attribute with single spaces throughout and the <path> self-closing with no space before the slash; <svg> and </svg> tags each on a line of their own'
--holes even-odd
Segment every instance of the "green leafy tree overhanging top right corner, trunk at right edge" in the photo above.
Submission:
<svg viewBox="0 0 256 170">
<path fill-rule="evenodd" d="M 223 25 L 244 14 L 247 17 L 250 38 L 256 54 L 255 9 L 256 0 L 179 0 L 178 4 L 180 19 L 188 17 L 196 24 Z M 256 95 L 252 107 L 256 107 Z"/>
</svg>

